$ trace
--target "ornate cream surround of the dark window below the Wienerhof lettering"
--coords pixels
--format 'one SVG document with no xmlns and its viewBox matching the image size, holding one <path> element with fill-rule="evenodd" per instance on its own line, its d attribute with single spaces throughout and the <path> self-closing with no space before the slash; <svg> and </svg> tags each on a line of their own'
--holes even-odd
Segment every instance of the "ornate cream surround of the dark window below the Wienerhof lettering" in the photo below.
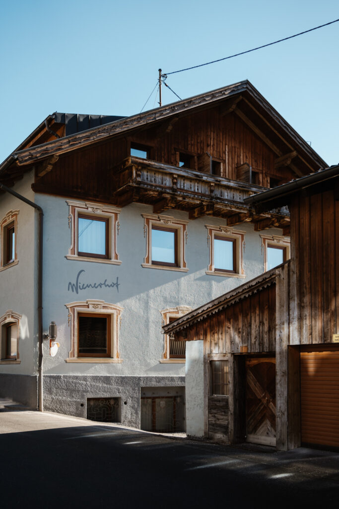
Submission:
<svg viewBox="0 0 339 509">
<path fill-rule="evenodd" d="M 119 337 L 118 331 L 120 328 L 121 313 L 124 308 L 117 304 L 111 304 L 104 300 L 90 300 L 76 301 L 65 304 L 68 309 L 68 326 L 71 329 L 71 350 L 66 362 L 82 362 L 82 363 L 120 363 L 119 354 Z M 78 324 L 79 316 L 84 314 L 98 317 L 110 315 L 110 345 L 108 354 L 99 356 L 84 356 L 78 355 Z"/>
</svg>

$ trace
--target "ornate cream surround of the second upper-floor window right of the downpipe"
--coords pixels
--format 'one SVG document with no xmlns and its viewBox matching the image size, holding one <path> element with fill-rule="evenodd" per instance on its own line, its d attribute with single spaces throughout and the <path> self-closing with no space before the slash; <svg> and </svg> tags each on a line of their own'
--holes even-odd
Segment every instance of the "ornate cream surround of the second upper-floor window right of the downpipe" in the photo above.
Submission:
<svg viewBox="0 0 339 509">
<path fill-rule="evenodd" d="M 146 239 L 146 256 L 142 267 L 149 269 L 175 270 L 178 272 L 187 272 L 189 269 L 186 264 L 186 242 L 187 242 L 187 224 L 189 221 L 174 219 L 172 216 L 142 214 L 144 218 L 144 237 Z M 152 263 L 152 228 L 164 231 L 176 232 L 176 264 Z"/>
</svg>

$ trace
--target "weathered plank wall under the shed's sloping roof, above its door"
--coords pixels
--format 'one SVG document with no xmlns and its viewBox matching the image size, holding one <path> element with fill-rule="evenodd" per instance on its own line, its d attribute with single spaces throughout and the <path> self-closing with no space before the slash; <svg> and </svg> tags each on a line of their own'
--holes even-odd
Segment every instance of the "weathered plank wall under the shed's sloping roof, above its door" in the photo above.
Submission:
<svg viewBox="0 0 339 509">
<path fill-rule="evenodd" d="M 275 285 L 205 318 L 188 330 L 188 340 L 203 339 L 206 353 L 273 352 L 275 350 Z"/>
</svg>

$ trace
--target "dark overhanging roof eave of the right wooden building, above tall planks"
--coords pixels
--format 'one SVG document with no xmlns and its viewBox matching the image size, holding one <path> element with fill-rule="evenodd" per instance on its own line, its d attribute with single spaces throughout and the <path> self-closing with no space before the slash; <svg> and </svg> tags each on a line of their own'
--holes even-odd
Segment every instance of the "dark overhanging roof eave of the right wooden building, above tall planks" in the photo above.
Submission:
<svg viewBox="0 0 339 509">
<path fill-rule="evenodd" d="M 260 206 L 261 210 L 271 210 L 279 202 L 279 205 L 286 204 L 292 194 L 311 187 L 321 182 L 339 177 L 339 165 L 333 165 L 329 168 L 319 169 L 316 173 L 305 175 L 296 180 L 291 180 L 286 184 L 274 187 L 268 191 L 263 191 L 244 199 L 244 203 L 253 206 Z"/>
</svg>

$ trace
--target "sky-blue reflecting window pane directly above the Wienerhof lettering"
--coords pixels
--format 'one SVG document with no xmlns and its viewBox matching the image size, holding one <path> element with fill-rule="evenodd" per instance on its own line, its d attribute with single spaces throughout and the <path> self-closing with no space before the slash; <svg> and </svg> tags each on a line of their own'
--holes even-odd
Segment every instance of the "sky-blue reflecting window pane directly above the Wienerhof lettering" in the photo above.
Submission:
<svg viewBox="0 0 339 509">
<path fill-rule="evenodd" d="M 79 217 L 78 251 L 105 256 L 106 224 L 106 221 Z"/>
</svg>

